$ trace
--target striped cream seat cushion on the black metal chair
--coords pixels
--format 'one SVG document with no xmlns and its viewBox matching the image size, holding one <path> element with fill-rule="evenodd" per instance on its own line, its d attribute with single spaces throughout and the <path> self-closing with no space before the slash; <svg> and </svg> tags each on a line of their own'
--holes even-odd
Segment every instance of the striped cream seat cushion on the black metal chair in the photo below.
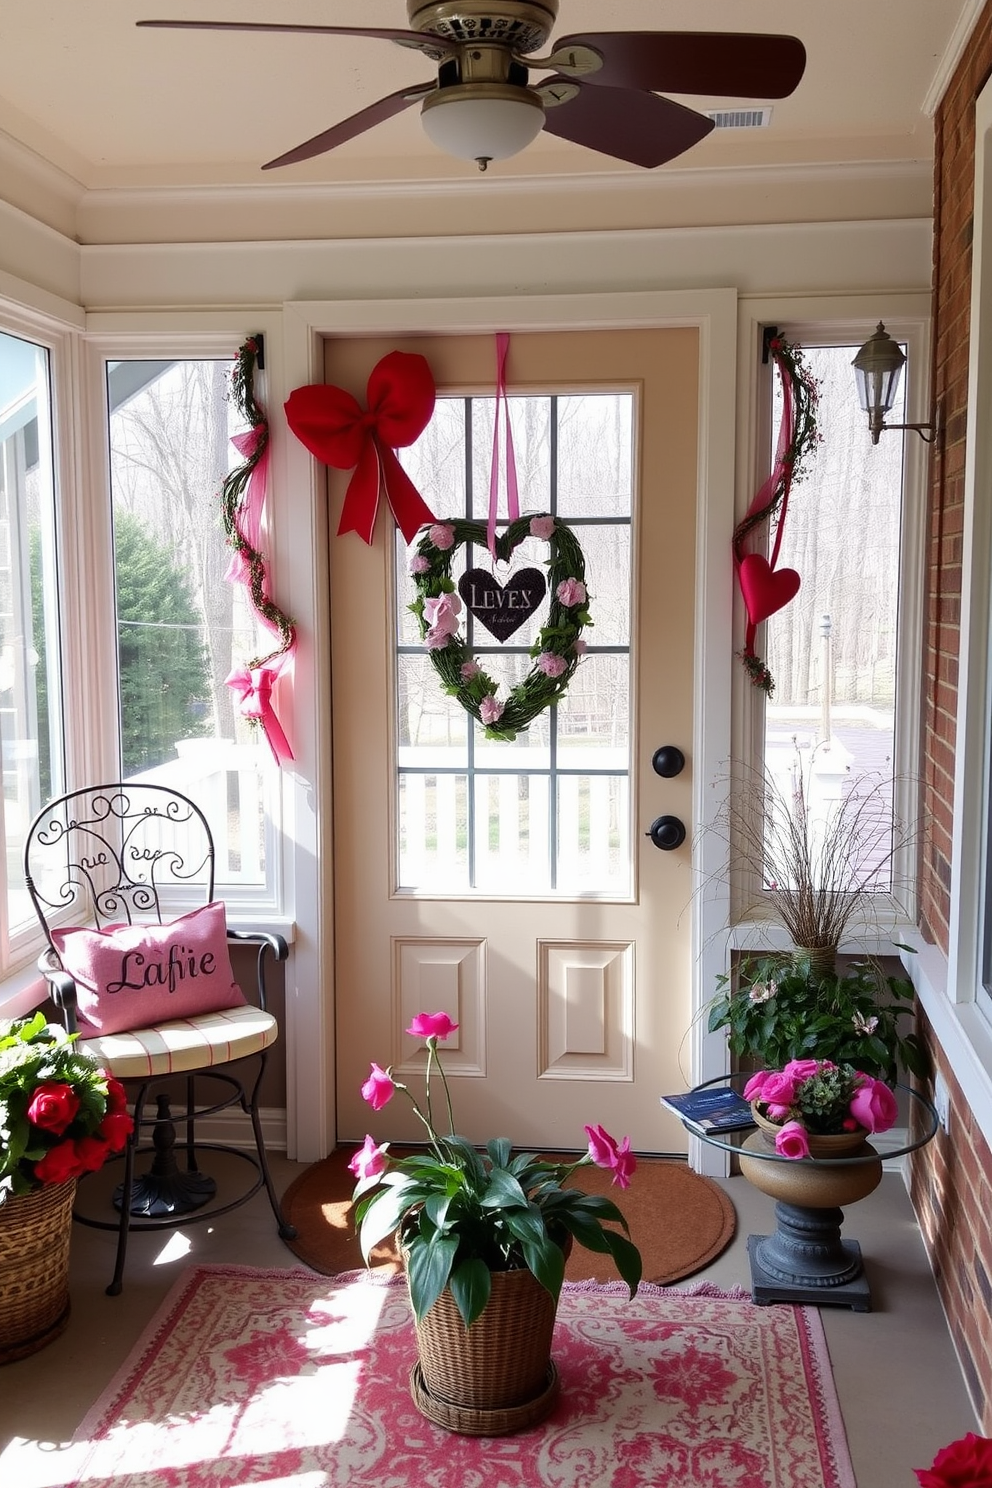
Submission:
<svg viewBox="0 0 992 1488">
<path fill-rule="evenodd" d="M 117 1080 L 141 1080 L 150 1074 L 208 1070 L 214 1064 L 244 1059 L 268 1049 L 278 1033 L 272 1013 L 244 1006 L 178 1018 L 155 1028 L 80 1039 L 79 1048 L 95 1055 Z"/>
</svg>

